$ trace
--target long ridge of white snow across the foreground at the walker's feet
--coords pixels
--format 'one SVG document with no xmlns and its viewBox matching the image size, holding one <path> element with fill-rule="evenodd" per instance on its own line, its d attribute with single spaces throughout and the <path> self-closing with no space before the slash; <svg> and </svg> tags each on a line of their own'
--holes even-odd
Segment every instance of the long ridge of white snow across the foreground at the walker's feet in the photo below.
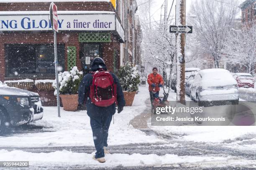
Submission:
<svg viewBox="0 0 256 170">
<path fill-rule="evenodd" d="M 177 165 L 184 163 L 202 163 L 202 162 L 217 162 L 233 159 L 233 157 L 214 157 L 214 156 L 178 156 L 173 154 L 166 154 L 158 156 L 155 154 L 141 155 L 139 153 L 128 154 L 108 154 L 105 155 L 106 163 L 98 163 L 92 160 L 93 154 L 87 153 L 73 153 L 67 150 L 56 151 L 52 153 L 28 153 L 20 150 L 8 152 L 7 150 L 0 150 L 0 155 L 3 161 L 29 161 L 30 166 L 38 166 L 44 164 L 47 166 L 61 164 L 61 166 L 68 165 L 87 165 L 87 166 L 107 166 L 113 167 L 117 165 L 123 166 L 153 166 L 153 165 Z M 72 161 L 71 161 L 72 160 Z M 85 161 L 87 160 L 87 161 Z M 249 161 L 249 160 L 248 160 Z M 248 162 L 247 162 L 248 163 Z M 251 164 L 256 163 L 251 160 Z"/>
</svg>

